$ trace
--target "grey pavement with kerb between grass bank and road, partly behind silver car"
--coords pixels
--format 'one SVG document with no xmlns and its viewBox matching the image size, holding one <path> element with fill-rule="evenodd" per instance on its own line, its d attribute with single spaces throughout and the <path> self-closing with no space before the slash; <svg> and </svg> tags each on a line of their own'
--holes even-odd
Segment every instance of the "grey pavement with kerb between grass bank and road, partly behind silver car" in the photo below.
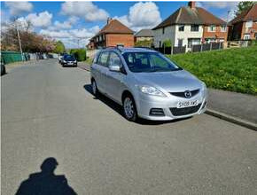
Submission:
<svg viewBox="0 0 257 195">
<path fill-rule="evenodd" d="M 80 62 L 80 68 L 90 71 L 90 65 Z M 257 97 L 225 90 L 208 89 L 208 114 L 257 130 Z"/>
</svg>

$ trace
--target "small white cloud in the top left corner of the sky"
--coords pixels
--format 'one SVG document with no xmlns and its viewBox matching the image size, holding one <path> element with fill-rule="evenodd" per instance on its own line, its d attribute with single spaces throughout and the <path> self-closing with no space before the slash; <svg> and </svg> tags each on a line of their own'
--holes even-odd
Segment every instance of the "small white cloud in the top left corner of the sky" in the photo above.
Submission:
<svg viewBox="0 0 257 195">
<path fill-rule="evenodd" d="M 29 2 L 5 2 L 5 5 L 9 7 L 10 13 L 13 16 L 23 12 L 31 12 L 33 9 L 33 4 Z"/>
</svg>

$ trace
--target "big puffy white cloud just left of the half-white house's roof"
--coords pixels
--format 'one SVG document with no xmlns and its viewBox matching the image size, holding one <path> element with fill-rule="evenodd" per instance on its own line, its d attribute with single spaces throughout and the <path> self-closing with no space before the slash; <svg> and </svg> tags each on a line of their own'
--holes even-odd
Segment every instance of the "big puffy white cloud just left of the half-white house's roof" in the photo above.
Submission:
<svg viewBox="0 0 257 195">
<path fill-rule="evenodd" d="M 120 20 L 121 23 L 136 31 L 155 27 L 161 21 L 159 8 L 153 2 L 138 2 L 129 8 L 128 15 L 115 16 L 114 19 Z"/>
</svg>

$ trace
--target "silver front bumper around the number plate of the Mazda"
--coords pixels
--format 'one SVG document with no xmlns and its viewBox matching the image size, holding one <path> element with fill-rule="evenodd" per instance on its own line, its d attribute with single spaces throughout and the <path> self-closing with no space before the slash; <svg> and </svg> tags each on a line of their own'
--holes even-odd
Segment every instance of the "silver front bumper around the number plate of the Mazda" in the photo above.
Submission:
<svg viewBox="0 0 257 195">
<path fill-rule="evenodd" d="M 191 109 L 191 113 L 185 112 L 185 114 L 183 114 L 183 112 L 180 112 L 180 114 L 178 115 L 174 112 L 175 109 L 171 109 L 176 108 L 178 102 L 194 100 L 198 100 L 199 105 L 195 109 Z M 192 98 L 179 98 L 172 95 L 162 98 L 140 93 L 140 95 L 136 98 L 136 109 L 138 116 L 141 118 L 152 121 L 170 121 L 190 117 L 195 114 L 205 113 L 206 102 L 207 97 L 206 94 L 204 94 L 203 92 L 199 92 L 198 95 Z M 152 108 L 161 108 L 164 115 L 157 116 L 150 114 Z"/>
</svg>

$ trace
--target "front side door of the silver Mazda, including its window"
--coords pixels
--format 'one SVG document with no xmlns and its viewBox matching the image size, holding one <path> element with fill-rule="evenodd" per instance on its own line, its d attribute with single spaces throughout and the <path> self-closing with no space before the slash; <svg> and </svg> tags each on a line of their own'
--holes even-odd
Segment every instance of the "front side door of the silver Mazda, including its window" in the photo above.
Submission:
<svg viewBox="0 0 257 195">
<path fill-rule="evenodd" d="M 120 56 L 114 51 L 110 52 L 108 60 L 108 66 L 112 64 L 122 66 Z M 126 74 L 110 71 L 109 68 L 105 76 L 106 93 L 110 98 L 113 98 L 118 102 L 121 100 L 124 76 L 126 76 Z"/>
</svg>

